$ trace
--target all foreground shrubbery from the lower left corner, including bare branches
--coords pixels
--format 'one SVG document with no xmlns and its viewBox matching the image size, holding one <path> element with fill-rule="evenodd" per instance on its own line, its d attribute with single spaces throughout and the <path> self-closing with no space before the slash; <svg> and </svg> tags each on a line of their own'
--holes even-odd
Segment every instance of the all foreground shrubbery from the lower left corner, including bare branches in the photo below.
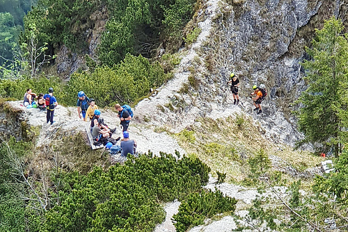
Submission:
<svg viewBox="0 0 348 232">
<path fill-rule="evenodd" d="M 0 229 L 5 231 L 152 231 L 164 219 L 161 203 L 174 199 L 187 205 L 176 216 L 182 228 L 235 210 L 235 199 L 202 190 L 210 168 L 196 156 L 129 156 L 125 165 L 83 174 L 74 167 L 63 171 L 66 161 L 56 148 L 45 155 L 52 162 L 61 160 L 55 168 L 28 172 L 23 161 L 31 146 L 14 138 L 0 146 Z M 19 196 L 27 199 L 25 204 Z M 184 221 L 193 212 L 193 221 Z"/>
</svg>

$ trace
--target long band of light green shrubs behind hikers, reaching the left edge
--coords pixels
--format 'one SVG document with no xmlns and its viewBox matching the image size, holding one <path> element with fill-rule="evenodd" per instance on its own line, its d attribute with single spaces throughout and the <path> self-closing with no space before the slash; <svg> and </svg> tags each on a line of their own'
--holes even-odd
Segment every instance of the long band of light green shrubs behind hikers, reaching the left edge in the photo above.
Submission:
<svg viewBox="0 0 348 232">
<path fill-rule="evenodd" d="M 77 92 L 84 90 L 93 97 L 98 106 L 112 106 L 114 103 L 132 103 L 146 96 L 150 88 L 156 88 L 167 80 L 159 63 L 150 64 L 147 58 L 128 54 L 124 61 L 113 68 L 97 67 L 95 72 L 72 74 L 67 83 L 59 78 L 22 78 L 0 80 L 0 96 L 22 99 L 27 88 L 37 94 L 54 88 L 58 103 L 74 106 Z"/>
</svg>

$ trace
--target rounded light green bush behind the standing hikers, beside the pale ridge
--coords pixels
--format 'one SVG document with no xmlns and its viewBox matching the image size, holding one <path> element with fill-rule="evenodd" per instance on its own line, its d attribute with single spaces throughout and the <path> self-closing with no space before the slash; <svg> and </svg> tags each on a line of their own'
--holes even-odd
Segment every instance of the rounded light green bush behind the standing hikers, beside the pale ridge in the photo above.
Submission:
<svg viewBox="0 0 348 232">
<path fill-rule="evenodd" d="M 147 58 L 128 53 L 125 60 L 113 68 L 98 67 L 92 74 L 72 74 L 66 88 L 66 101 L 74 105 L 77 92 L 83 90 L 88 97 L 95 99 L 98 106 L 111 106 L 116 102 L 132 103 L 164 81 L 166 75 L 159 63 L 150 64 Z"/>
</svg>

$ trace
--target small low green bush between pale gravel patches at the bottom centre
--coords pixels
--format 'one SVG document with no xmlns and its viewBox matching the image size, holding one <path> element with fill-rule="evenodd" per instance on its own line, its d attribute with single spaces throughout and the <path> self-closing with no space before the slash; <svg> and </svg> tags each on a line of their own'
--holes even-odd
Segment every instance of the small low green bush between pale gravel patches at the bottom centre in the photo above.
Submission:
<svg viewBox="0 0 348 232">
<path fill-rule="evenodd" d="M 218 213 L 230 213 L 235 211 L 237 200 L 232 197 L 224 197 L 219 190 L 212 192 L 194 192 L 182 201 L 179 213 L 173 216 L 175 229 L 178 232 L 187 231 L 193 226 L 204 223 L 206 217 L 212 217 Z"/>
</svg>

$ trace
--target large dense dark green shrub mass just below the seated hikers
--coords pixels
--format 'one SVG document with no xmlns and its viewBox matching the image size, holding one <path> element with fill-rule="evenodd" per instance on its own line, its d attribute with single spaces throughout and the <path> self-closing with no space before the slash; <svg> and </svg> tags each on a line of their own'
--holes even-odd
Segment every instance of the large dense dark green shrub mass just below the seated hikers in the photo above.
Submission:
<svg viewBox="0 0 348 232">
<path fill-rule="evenodd" d="M 152 231 L 164 219 L 160 203 L 200 190 L 210 171 L 196 156 L 152 156 L 129 156 L 106 172 L 65 174 L 59 204 L 39 231 Z"/>
</svg>

